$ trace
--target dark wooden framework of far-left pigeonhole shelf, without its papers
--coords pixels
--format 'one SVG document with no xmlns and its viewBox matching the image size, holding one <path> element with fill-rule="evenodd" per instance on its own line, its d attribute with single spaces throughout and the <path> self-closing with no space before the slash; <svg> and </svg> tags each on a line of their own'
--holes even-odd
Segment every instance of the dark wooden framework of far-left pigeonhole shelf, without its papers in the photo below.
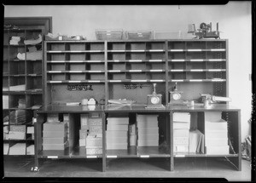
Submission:
<svg viewBox="0 0 256 183">
<path fill-rule="evenodd" d="M 26 45 L 19 43 L 18 45 L 9 44 L 9 37 L 23 37 L 25 40 L 31 40 L 33 37 L 43 34 L 42 29 L 27 27 L 19 30 L 8 29 L 4 32 L 4 49 L 3 49 L 3 66 L 4 66 L 4 77 L 3 77 L 3 94 L 9 97 L 9 108 L 3 110 L 3 117 L 10 116 L 10 112 L 16 110 L 25 110 L 25 124 L 26 127 L 32 126 L 32 117 L 36 117 L 36 112 L 32 109 L 34 105 L 43 105 L 44 89 L 43 89 L 43 51 L 42 59 L 40 60 L 19 60 L 17 55 L 19 53 L 26 53 L 26 49 L 34 45 Z M 38 43 L 43 47 L 43 43 Z M 43 48 L 42 48 L 43 49 Z M 6 78 L 7 77 L 7 78 Z M 10 91 L 11 86 L 25 85 L 26 90 Z M 18 108 L 19 100 L 25 100 L 26 108 Z M 18 117 L 17 117 L 18 118 Z M 15 124 L 8 124 L 9 126 Z M 25 143 L 26 146 L 35 144 L 35 140 L 32 140 L 31 134 L 26 135 L 26 140 L 4 140 L 9 144 L 14 143 Z M 6 155 L 10 157 L 20 156 L 31 156 L 27 154 L 20 155 Z"/>
</svg>

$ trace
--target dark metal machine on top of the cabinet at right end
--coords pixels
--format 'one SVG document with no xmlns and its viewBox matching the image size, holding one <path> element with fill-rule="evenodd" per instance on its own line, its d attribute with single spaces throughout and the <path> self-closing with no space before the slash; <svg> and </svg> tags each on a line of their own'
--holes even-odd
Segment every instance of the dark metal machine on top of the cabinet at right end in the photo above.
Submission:
<svg viewBox="0 0 256 183">
<path fill-rule="evenodd" d="M 201 23 L 200 29 L 195 29 L 195 24 L 189 25 L 189 31 L 188 33 L 192 33 L 195 35 L 195 38 L 215 38 L 218 39 L 219 37 L 219 31 L 218 31 L 218 22 L 216 25 L 216 31 L 212 31 L 212 22 L 210 24 Z"/>
</svg>

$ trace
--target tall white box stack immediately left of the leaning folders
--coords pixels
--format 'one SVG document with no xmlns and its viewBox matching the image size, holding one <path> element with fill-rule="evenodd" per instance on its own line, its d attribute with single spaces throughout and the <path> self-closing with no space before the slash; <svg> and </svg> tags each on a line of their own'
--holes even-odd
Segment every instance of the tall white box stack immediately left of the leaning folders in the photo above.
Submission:
<svg viewBox="0 0 256 183">
<path fill-rule="evenodd" d="M 173 112 L 173 152 L 189 152 L 190 113 Z"/>
</svg>

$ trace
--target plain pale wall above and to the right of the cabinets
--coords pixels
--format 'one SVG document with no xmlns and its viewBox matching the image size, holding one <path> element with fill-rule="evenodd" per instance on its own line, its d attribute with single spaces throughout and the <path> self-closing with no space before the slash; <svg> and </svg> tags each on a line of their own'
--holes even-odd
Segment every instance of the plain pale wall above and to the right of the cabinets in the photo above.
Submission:
<svg viewBox="0 0 256 183">
<path fill-rule="evenodd" d="M 124 31 L 188 31 L 194 23 L 212 22 L 220 37 L 229 39 L 230 105 L 241 109 L 241 140 L 251 134 L 252 20 L 251 2 L 226 5 L 5 5 L 5 17 L 52 16 L 54 34 L 82 35 L 96 39 L 96 29 Z"/>
</svg>

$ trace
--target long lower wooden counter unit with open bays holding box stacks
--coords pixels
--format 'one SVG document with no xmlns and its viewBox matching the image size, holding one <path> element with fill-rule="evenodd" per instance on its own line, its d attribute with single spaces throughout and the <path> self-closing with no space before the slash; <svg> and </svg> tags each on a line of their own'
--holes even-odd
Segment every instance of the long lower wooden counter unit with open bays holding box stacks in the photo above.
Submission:
<svg viewBox="0 0 256 183">
<path fill-rule="evenodd" d="M 226 143 L 223 146 L 228 146 L 228 151 L 208 153 L 211 146 L 207 142 L 202 146 L 207 152 L 177 152 L 175 150 L 177 125 L 174 125 L 177 123 L 177 113 L 189 114 L 190 131 L 198 129 L 205 138 L 209 138 L 207 129 L 209 121 L 218 119 L 219 122 L 224 122 L 219 123 L 222 131 L 215 129 L 214 133 L 226 133 L 224 135 Z M 52 133 L 49 135 L 65 130 L 62 127 L 49 129 L 46 124 L 50 120 L 61 121 L 61 124 L 67 125 L 67 138 L 62 138 L 61 150 L 44 148 L 45 144 L 48 144 L 45 141 L 47 130 Z M 87 136 L 84 137 L 82 129 L 86 130 Z M 55 130 L 58 132 L 56 133 Z M 225 104 L 212 105 L 210 108 L 166 106 L 165 109 L 145 109 L 143 105 L 95 106 L 94 108 L 66 105 L 44 106 L 41 111 L 38 111 L 35 135 L 35 167 L 37 168 L 39 160 L 44 158 L 94 158 L 96 161 L 100 160 L 102 171 L 108 171 L 108 162 L 113 158 L 119 158 L 121 161 L 126 157 L 135 159 L 158 157 L 165 158 L 166 169 L 172 171 L 175 169 L 176 158 L 221 157 L 228 159 L 230 164 L 241 170 L 240 110 Z M 216 135 L 213 139 L 214 137 Z M 63 139 L 68 141 L 67 146 L 63 146 L 65 144 Z"/>
</svg>

